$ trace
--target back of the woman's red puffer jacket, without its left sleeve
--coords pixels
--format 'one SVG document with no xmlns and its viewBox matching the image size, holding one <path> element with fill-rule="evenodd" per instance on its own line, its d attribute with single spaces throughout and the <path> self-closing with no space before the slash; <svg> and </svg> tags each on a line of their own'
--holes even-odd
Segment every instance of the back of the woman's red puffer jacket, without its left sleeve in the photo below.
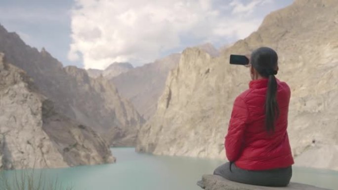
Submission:
<svg viewBox="0 0 338 190">
<path fill-rule="evenodd" d="M 246 104 L 241 107 L 245 106 L 248 112 L 243 151 L 236 160 L 236 165 L 243 169 L 266 170 L 288 167 L 294 163 L 287 134 L 290 88 L 285 82 L 277 80 L 279 115 L 274 132 L 268 132 L 264 109 L 267 85 L 266 78 L 252 80 L 250 88 L 240 95 Z M 236 108 L 233 112 L 236 112 Z"/>
</svg>

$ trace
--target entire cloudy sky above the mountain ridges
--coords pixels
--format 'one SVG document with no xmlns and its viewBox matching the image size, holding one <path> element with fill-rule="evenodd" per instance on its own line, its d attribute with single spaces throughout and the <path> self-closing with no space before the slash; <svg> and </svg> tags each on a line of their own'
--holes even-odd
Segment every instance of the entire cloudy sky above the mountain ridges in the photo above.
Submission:
<svg viewBox="0 0 338 190">
<path fill-rule="evenodd" d="M 293 0 L 0 0 L 0 24 L 63 65 L 141 66 L 186 47 L 246 38 Z"/>
</svg>

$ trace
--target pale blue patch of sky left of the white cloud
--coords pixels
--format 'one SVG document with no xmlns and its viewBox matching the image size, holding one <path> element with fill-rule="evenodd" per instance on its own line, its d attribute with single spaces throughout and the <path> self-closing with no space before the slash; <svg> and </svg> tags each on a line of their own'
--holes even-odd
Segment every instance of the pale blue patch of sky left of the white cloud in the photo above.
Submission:
<svg viewBox="0 0 338 190">
<path fill-rule="evenodd" d="M 1 0 L 0 24 L 18 33 L 28 45 L 45 47 L 64 65 L 81 67 L 81 62 L 67 59 L 72 5 L 72 0 Z"/>
</svg>

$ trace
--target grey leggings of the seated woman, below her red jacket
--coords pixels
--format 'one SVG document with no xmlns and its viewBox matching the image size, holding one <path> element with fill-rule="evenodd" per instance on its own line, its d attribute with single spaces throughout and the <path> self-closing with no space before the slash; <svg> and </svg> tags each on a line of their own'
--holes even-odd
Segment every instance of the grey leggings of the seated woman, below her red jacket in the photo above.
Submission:
<svg viewBox="0 0 338 190">
<path fill-rule="evenodd" d="M 231 171 L 230 171 L 231 165 Z M 234 163 L 227 162 L 215 169 L 213 175 L 222 176 L 230 181 L 243 184 L 268 187 L 288 186 L 292 177 L 292 167 L 252 171 L 238 168 Z"/>
</svg>

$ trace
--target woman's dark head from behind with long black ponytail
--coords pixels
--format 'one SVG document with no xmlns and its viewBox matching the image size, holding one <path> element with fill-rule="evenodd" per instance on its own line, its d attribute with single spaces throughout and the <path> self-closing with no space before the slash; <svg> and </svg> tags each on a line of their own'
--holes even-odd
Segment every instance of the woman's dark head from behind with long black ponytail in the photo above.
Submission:
<svg viewBox="0 0 338 190">
<path fill-rule="evenodd" d="M 260 76 L 269 78 L 265 99 L 265 125 L 268 132 L 275 131 L 275 120 L 279 116 L 277 103 L 277 74 L 278 55 L 269 47 L 260 47 L 251 54 L 251 64 Z"/>
</svg>

